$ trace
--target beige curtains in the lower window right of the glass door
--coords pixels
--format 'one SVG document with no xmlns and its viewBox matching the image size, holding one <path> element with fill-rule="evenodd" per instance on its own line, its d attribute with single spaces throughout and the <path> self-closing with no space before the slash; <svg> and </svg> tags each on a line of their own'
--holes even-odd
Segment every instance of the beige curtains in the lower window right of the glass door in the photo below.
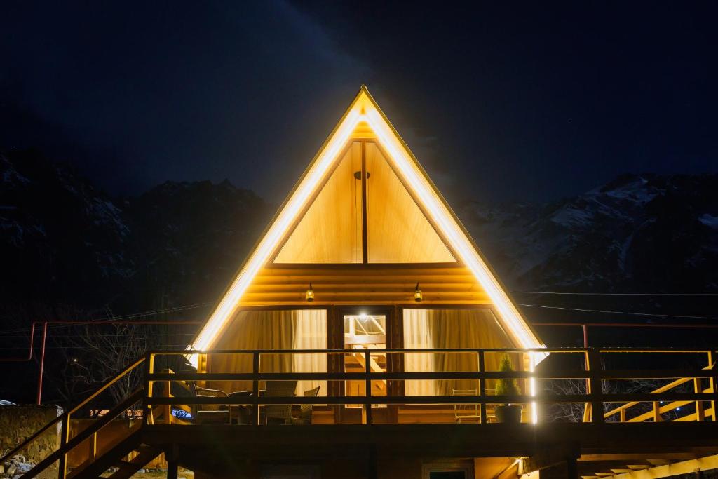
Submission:
<svg viewBox="0 0 718 479">
<path fill-rule="evenodd" d="M 404 310 L 406 348 L 513 348 L 491 310 Z M 500 358 L 485 355 L 486 371 L 496 371 Z M 405 371 L 478 371 L 473 353 L 407 354 Z M 477 389 L 474 380 L 406 381 L 408 395 L 449 395 L 452 389 Z"/>
</svg>

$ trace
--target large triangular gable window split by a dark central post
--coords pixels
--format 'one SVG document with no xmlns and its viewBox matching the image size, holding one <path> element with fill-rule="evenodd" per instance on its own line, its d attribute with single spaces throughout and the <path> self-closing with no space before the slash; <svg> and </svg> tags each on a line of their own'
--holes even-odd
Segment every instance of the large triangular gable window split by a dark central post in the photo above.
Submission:
<svg viewBox="0 0 718 479">
<path fill-rule="evenodd" d="M 455 262 L 374 141 L 349 144 L 300 218 L 275 264 Z"/>
</svg>

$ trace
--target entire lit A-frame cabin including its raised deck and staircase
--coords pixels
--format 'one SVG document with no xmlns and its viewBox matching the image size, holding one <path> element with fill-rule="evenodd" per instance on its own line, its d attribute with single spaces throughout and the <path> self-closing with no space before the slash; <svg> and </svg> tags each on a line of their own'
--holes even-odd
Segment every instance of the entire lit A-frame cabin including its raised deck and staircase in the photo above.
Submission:
<svg viewBox="0 0 718 479">
<path fill-rule="evenodd" d="M 699 368 L 635 369 L 666 353 Z M 668 477 L 718 468 L 717 354 L 544 348 L 362 87 L 192 344 L 6 457 L 57 429 L 22 479 L 128 479 L 162 454 L 171 479 Z M 631 378 L 663 383 L 605 391 Z"/>
</svg>

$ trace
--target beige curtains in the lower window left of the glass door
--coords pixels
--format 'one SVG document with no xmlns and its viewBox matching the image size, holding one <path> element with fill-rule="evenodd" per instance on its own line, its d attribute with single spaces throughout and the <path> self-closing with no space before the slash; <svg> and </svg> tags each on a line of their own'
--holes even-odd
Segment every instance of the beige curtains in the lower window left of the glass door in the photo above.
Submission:
<svg viewBox="0 0 718 479">
<path fill-rule="evenodd" d="M 327 312 L 325 310 L 242 311 L 225 327 L 213 350 L 326 349 Z M 208 353 L 210 373 L 251 373 L 251 354 Z M 263 354 L 259 370 L 264 373 L 325 372 L 324 354 Z M 321 386 L 326 381 L 299 381 L 297 394 Z M 251 381 L 210 381 L 208 387 L 227 393 L 252 389 Z"/>
</svg>

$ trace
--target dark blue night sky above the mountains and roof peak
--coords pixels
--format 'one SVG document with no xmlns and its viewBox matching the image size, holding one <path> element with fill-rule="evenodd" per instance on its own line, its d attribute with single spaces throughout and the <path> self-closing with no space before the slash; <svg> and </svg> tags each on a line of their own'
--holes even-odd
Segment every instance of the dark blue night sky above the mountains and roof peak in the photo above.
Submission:
<svg viewBox="0 0 718 479">
<path fill-rule="evenodd" d="M 280 201 L 365 83 L 453 201 L 718 171 L 714 2 L 328 5 L 6 1 L 0 149 Z"/>
</svg>

